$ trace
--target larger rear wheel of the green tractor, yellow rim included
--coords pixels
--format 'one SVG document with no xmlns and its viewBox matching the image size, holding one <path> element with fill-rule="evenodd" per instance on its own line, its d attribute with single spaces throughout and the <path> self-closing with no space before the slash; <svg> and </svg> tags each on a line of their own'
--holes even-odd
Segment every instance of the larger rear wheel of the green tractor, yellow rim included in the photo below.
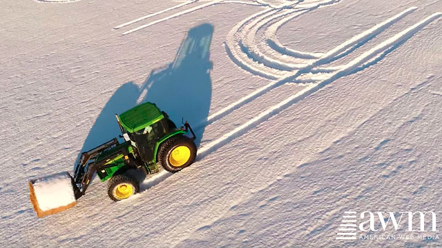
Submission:
<svg viewBox="0 0 442 248">
<path fill-rule="evenodd" d="M 195 161 L 195 143 L 183 135 L 173 136 L 164 141 L 158 152 L 158 161 L 168 172 L 179 172 Z"/>
</svg>

